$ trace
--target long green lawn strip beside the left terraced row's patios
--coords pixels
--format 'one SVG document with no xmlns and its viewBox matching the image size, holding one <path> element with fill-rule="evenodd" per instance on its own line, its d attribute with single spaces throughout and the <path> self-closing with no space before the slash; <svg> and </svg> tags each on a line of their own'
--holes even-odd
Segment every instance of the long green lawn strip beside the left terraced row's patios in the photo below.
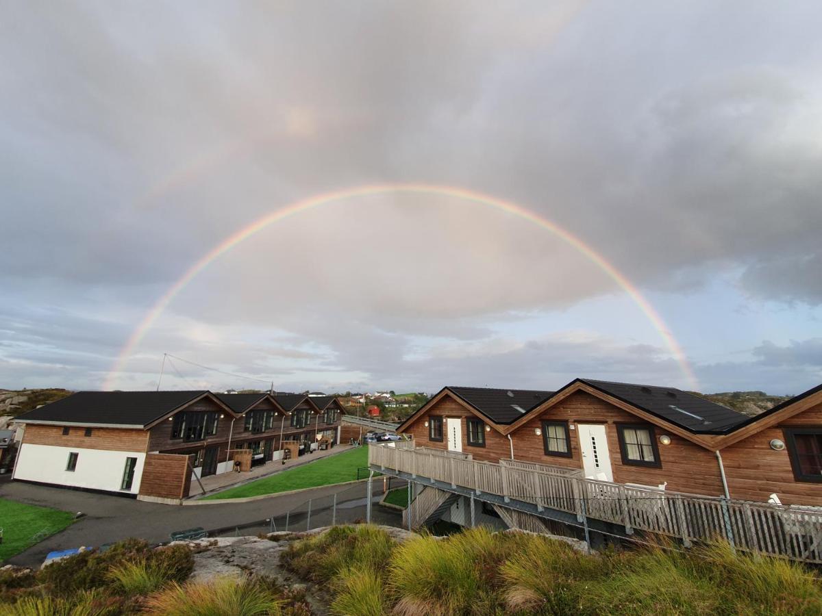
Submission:
<svg viewBox="0 0 822 616">
<path fill-rule="evenodd" d="M 211 494 L 204 500 L 242 499 L 247 496 L 316 488 L 318 485 L 341 484 L 357 479 L 357 469 L 367 466 L 368 448 L 358 447 L 335 456 L 323 457 L 316 462 L 304 464 L 302 467 L 292 468 L 245 485 L 238 485 L 236 488 Z"/>
</svg>

